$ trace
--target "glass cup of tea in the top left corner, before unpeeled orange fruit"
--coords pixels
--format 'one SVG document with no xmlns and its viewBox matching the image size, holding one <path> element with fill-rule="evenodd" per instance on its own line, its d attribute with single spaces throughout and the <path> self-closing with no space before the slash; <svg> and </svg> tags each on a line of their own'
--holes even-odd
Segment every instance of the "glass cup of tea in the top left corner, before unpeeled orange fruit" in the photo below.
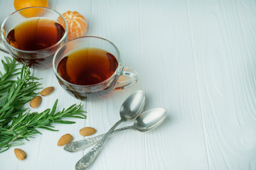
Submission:
<svg viewBox="0 0 256 170">
<path fill-rule="evenodd" d="M 18 62 L 45 69 L 51 67 L 56 50 L 67 42 L 68 23 L 53 9 L 23 8 L 4 20 L 0 39 Z"/>
</svg>

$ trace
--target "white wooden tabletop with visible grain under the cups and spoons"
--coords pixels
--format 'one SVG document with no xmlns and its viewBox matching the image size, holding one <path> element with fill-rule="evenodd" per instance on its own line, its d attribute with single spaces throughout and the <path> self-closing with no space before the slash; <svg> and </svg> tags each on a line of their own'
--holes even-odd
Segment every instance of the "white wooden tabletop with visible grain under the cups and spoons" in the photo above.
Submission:
<svg viewBox="0 0 256 170">
<path fill-rule="evenodd" d="M 138 84 L 84 103 L 87 119 L 55 125 L 18 148 L 0 154 L 1 170 L 75 169 L 89 149 L 69 153 L 57 147 L 60 136 L 82 140 L 79 130 L 107 132 L 119 120 L 119 107 L 138 89 L 144 110 L 164 107 L 168 117 L 151 132 L 134 130 L 110 137 L 90 169 L 256 169 L 256 1 L 254 0 L 95 0 L 51 1 L 63 13 L 78 11 L 88 22 L 86 35 L 114 42 L 123 64 L 139 73 Z M 0 23 L 14 11 L 0 1 Z M 0 52 L 1 58 L 5 56 Z M 36 111 L 80 103 L 58 84 L 52 69 L 36 70 L 53 94 Z M 33 111 L 33 110 L 32 110 Z M 124 123 L 128 125 L 132 123 Z"/>
</svg>

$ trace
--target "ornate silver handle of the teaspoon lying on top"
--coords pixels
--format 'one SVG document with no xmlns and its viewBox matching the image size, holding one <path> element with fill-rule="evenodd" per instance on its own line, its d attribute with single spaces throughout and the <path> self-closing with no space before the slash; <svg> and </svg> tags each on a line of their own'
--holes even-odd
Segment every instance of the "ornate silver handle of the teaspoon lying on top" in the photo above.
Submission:
<svg viewBox="0 0 256 170">
<path fill-rule="evenodd" d="M 90 149 L 87 154 L 85 154 L 79 161 L 78 163 L 75 164 L 75 169 L 87 169 L 96 159 L 97 155 L 100 153 L 105 141 L 107 140 L 108 137 L 112 134 L 115 128 L 122 123 L 123 120 L 119 120 L 117 123 L 115 123 L 112 128 L 102 137 L 102 140 L 97 142 L 95 147 Z"/>
</svg>

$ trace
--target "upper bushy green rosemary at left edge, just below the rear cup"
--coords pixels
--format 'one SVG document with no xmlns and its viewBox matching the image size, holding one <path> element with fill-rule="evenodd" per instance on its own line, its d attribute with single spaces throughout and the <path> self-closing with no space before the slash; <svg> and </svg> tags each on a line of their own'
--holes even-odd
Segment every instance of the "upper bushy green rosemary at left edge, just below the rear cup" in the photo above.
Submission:
<svg viewBox="0 0 256 170">
<path fill-rule="evenodd" d="M 5 57 L 1 60 L 4 65 L 5 74 L 0 72 L 0 128 L 7 125 L 14 116 L 22 114 L 27 108 L 23 105 L 31 101 L 38 93 L 34 91 L 41 89 L 38 78 L 32 77 L 30 69 L 21 67 L 16 69 L 18 63 Z M 17 74 L 17 80 L 12 80 Z"/>
</svg>

